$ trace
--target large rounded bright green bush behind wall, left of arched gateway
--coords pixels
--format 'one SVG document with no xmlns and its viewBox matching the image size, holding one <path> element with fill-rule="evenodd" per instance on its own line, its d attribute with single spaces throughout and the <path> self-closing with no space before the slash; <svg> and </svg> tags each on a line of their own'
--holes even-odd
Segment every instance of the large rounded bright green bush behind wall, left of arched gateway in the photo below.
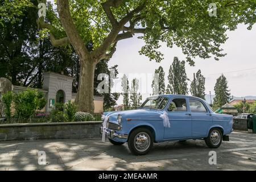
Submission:
<svg viewBox="0 0 256 182">
<path fill-rule="evenodd" d="M 37 109 L 42 109 L 46 103 L 43 93 L 35 89 L 27 89 L 24 92 L 19 92 L 14 95 L 15 115 L 18 119 L 27 119 L 35 114 Z"/>
</svg>

